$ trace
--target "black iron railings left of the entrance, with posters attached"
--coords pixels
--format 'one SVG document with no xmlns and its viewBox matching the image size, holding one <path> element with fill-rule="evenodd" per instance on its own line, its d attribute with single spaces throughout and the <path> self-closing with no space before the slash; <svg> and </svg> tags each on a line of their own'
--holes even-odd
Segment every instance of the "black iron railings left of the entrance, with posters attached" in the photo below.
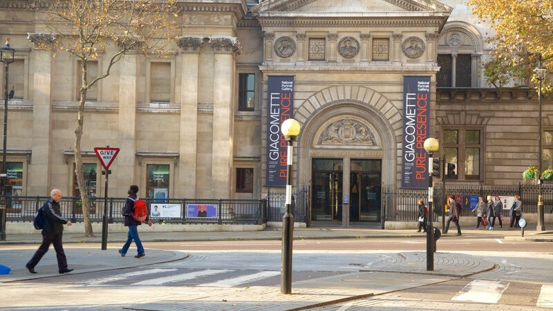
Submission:
<svg viewBox="0 0 553 311">
<path fill-rule="evenodd" d="M 17 196 L 6 198 L 6 220 L 12 222 L 28 222 L 35 218 L 36 211 L 49 197 L 45 196 Z M 104 198 L 90 197 L 88 211 L 93 223 L 101 223 L 104 215 Z M 108 215 L 110 223 L 123 223 L 122 209 L 126 198 L 108 198 Z M 203 200 L 203 199 L 156 199 L 146 198 L 148 209 L 158 205 L 173 205 L 174 209 L 180 209 L 180 217 L 152 217 L 156 223 L 215 223 L 215 224 L 257 224 L 261 225 L 267 220 L 266 200 Z M 78 197 L 65 197 L 59 202 L 62 216 L 74 223 L 83 221 L 82 200 Z M 178 205 L 178 206 L 176 206 Z M 195 206 L 212 205 L 214 209 L 207 217 L 196 217 Z M 178 213 L 177 213 L 178 214 Z"/>
</svg>

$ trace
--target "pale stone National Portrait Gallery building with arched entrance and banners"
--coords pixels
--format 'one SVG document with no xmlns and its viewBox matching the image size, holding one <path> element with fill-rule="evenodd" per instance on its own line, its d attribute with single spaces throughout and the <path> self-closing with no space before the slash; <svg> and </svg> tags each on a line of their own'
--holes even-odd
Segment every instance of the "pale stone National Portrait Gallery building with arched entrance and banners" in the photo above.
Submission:
<svg viewBox="0 0 553 311">
<path fill-rule="evenodd" d="M 538 96 L 483 77 L 485 23 L 460 0 L 177 1 L 168 57 L 129 54 L 88 92 L 82 156 L 103 196 L 95 147 L 118 147 L 110 196 L 263 198 L 283 191 L 281 122 L 301 124 L 292 183 L 310 220 L 379 219 L 382 189 L 421 187 L 426 138 L 440 142 L 449 185 L 518 185 L 538 164 Z M 48 33 L 29 1 L 0 1 L 10 64 L 8 195 L 79 196 L 73 144 L 79 60 L 41 49 Z M 106 70 L 102 51 L 88 64 Z M 3 76 L 3 69 L 1 75 Z M 4 86 L 1 86 L 1 94 Z M 543 159 L 553 105 L 543 102 Z M 426 174 L 426 175 L 425 175 Z"/>
</svg>

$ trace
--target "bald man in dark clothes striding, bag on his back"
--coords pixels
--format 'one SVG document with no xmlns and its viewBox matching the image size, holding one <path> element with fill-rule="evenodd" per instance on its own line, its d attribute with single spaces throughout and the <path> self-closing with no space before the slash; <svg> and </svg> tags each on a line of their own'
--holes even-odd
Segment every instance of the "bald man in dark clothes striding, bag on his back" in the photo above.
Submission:
<svg viewBox="0 0 553 311">
<path fill-rule="evenodd" d="M 42 244 L 37 252 L 35 252 L 35 255 L 32 256 L 30 261 L 25 265 L 30 273 L 37 273 L 35 267 L 42 256 L 48 252 L 50 244 L 54 245 L 56 251 L 58 272 L 62 274 L 73 271 L 73 269 L 67 268 L 67 258 L 62 245 L 64 225 L 71 226 L 73 223 L 62 217 L 62 211 L 59 209 L 60 200 L 62 200 L 62 191 L 59 189 L 52 189 L 52 191 L 50 191 L 50 200 L 46 201 L 41 207 L 42 214 L 44 215 Z"/>
</svg>

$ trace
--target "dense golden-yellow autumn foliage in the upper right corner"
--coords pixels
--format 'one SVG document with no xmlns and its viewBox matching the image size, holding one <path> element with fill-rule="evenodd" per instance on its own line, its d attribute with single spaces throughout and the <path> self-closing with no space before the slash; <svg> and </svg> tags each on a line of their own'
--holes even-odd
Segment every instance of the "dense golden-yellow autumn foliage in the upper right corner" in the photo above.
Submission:
<svg viewBox="0 0 553 311">
<path fill-rule="evenodd" d="M 532 86 L 538 58 L 553 70 L 553 0 L 469 0 L 473 14 L 487 21 L 495 35 L 492 59 L 485 64 L 488 82 L 496 87 L 507 82 Z M 551 89 L 545 82 L 545 89 Z"/>
</svg>

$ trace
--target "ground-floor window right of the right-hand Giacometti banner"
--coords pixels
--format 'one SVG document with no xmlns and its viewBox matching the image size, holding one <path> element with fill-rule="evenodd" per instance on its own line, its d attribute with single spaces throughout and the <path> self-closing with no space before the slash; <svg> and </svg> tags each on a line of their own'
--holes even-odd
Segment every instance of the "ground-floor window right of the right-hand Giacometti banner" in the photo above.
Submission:
<svg viewBox="0 0 553 311">
<path fill-rule="evenodd" d="M 480 179 L 480 130 L 444 130 L 445 176 L 449 179 Z"/>
</svg>

